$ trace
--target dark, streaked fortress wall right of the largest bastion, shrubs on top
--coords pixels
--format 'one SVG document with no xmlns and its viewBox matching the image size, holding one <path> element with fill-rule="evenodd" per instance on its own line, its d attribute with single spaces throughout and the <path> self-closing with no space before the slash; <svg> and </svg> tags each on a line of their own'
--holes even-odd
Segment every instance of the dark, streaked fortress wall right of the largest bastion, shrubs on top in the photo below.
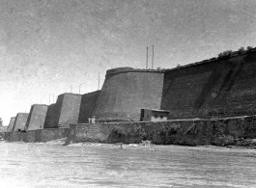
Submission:
<svg viewBox="0 0 256 188">
<path fill-rule="evenodd" d="M 161 109 L 169 119 L 256 114 L 256 52 L 166 70 Z"/>
</svg>

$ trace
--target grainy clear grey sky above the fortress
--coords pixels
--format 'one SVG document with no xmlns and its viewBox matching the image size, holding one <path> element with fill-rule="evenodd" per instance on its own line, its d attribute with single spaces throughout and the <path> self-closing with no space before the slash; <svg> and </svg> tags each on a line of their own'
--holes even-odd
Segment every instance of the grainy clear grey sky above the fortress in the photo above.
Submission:
<svg viewBox="0 0 256 188">
<path fill-rule="evenodd" d="M 109 68 L 171 68 L 256 46 L 255 0 L 0 0 L 0 118 L 100 88 Z"/>
</svg>

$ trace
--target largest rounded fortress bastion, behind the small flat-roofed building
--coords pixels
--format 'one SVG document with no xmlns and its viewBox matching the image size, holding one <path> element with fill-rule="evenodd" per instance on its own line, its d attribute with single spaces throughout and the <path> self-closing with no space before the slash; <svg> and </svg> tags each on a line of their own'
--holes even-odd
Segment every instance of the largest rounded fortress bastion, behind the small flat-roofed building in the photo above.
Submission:
<svg viewBox="0 0 256 188">
<path fill-rule="evenodd" d="M 160 108 L 163 73 L 149 70 L 110 69 L 94 115 L 104 120 L 137 120 L 142 108 Z"/>
</svg>

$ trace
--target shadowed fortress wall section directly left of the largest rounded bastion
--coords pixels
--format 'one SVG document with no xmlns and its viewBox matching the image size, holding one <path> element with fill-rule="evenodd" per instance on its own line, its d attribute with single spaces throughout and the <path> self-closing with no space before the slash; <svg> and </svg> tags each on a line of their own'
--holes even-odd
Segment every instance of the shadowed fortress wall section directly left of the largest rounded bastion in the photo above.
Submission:
<svg viewBox="0 0 256 188">
<path fill-rule="evenodd" d="M 87 123 L 88 119 L 93 117 L 99 94 L 100 91 L 96 91 L 82 95 L 78 123 Z"/>
</svg>

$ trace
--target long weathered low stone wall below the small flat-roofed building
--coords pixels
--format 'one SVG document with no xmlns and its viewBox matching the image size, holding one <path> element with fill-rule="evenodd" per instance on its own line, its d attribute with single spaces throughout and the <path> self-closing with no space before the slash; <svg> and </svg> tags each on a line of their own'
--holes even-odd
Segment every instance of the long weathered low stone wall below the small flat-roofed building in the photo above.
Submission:
<svg viewBox="0 0 256 188">
<path fill-rule="evenodd" d="M 236 145 L 256 138 L 256 116 L 219 120 L 179 120 L 71 124 L 66 145 L 79 142 L 202 146 Z"/>
</svg>

